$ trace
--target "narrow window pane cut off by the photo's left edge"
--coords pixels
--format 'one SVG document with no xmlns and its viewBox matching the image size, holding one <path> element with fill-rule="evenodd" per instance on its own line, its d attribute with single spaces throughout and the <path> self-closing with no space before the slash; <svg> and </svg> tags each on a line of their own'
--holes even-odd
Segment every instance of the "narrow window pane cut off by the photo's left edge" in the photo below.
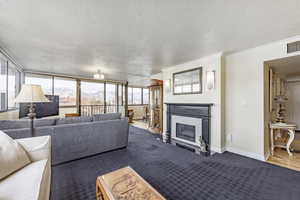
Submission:
<svg viewBox="0 0 300 200">
<path fill-rule="evenodd" d="M 6 106 L 6 86 L 7 86 L 7 67 L 6 60 L 0 57 L 0 111 L 7 109 Z"/>
</svg>

